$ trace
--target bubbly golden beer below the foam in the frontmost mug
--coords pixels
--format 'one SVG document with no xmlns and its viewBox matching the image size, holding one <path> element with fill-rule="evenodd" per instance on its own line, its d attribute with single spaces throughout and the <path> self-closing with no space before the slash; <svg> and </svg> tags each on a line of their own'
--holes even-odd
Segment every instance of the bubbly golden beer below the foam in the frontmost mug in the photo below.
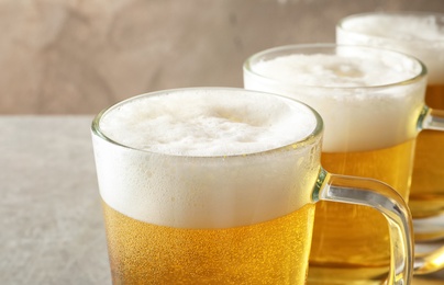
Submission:
<svg viewBox="0 0 444 285">
<path fill-rule="evenodd" d="M 304 284 L 314 205 L 266 223 L 186 229 L 103 202 L 113 284 Z"/>
</svg>

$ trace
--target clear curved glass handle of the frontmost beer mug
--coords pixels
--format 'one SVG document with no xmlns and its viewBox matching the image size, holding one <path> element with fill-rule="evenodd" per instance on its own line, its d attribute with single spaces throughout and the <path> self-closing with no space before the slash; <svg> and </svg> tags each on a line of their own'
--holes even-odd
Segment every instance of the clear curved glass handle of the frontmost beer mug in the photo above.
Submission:
<svg viewBox="0 0 444 285">
<path fill-rule="evenodd" d="M 412 219 L 398 192 L 377 180 L 331 174 L 321 170 L 313 198 L 357 204 L 380 212 L 389 224 L 391 237 L 387 284 L 410 284 L 413 274 Z"/>
</svg>

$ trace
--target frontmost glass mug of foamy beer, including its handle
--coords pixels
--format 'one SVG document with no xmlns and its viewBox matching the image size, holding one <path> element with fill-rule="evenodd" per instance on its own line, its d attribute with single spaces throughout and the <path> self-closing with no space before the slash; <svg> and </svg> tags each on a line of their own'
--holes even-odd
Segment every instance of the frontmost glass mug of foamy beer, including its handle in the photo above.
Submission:
<svg viewBox="0 0 444 285">
<path fill-rule="evenodd" d="M 378 212 L 389 284 L 409 284 L 406 202 L 326 172 L 322 135 L 308 105 L 244 89 L 165 90 L 101 112 L 92 142 L 113 284 L 304 284 L 321 201 Z"/>
</svg>

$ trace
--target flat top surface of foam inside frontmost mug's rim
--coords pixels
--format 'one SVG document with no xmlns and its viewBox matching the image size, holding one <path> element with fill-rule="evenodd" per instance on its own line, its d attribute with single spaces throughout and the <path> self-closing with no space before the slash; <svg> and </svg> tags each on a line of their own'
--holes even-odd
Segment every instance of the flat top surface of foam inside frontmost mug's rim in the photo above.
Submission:
<svg viewBox="0 0 444 285">
<path fill-rule="evenodd" d="M 287 100 L 182 91 L 124 103 L 103 116 L 100 128 L 112 140 L 147 151 L 232 156 L 290 145 L 315 125 L 306 106 Z"/>
</svg>

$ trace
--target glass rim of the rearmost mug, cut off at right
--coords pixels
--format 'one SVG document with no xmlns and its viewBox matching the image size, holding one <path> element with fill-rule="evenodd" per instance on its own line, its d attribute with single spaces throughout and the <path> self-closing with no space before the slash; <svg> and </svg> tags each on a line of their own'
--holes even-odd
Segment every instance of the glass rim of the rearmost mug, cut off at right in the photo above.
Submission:
<svg viewBox="0 0 444 285">
<path fill-rule="evenodd" d="M 391 37 L 387 37 L 387 36 L 380 36 L 380 35 L 368 35 L 362 32 L 357 32 L 351 29 L 346 29 L 345 27 L 345 22 L 347 21 L 352 21 L 355 19 L 359 19 L 359 18 L 364 18 L 364 16 L 369 16 L 369 15 L 399 15 L 399 16 L 435 16 L 435 18 L 442 18 L 444 20 L 444 13 L 440 13 L 440 12 L 423 12 L 423 11 L 397 11 L 397 12 L 365 12 L 365 13 L 356 13 L 356 14 L 351 14 L 347 16 L 342 18 L 337 23 L 336 23 L 336 29 L 340 29 L 344 32 L 347 33 L 353 33 L 353 34 L 357 34 L 357 35 L 362 35 L 362 36 L 366 36 L 366 37 L 371 37 L 371 38 L 380 38 L 384 41 L 388 41 L 388 42 L 393 42 L 395 39 L 392 39 Z M 424 42 L 426 43 L 434 43 L 434 44 L 444 44 L 444 39 L 443 41 L 439 41 L 439 39 L 432 39 L 432 41 L 428 41 L 428 39 L 396 39 L 396 42 L 401 42 L 401 43 L 409 43 L 409 44 L 419 44 L 419 45 L 423 45 Z"/>
</svg>

